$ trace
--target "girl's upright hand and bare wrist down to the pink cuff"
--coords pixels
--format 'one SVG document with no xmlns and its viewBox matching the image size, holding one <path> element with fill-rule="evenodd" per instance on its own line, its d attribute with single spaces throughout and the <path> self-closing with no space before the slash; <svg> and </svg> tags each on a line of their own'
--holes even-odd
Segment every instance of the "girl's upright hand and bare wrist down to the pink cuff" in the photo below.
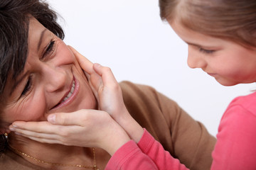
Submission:
<svg viewBox="0 0 256 170">
<path fill-rule="evenodd" d="M 70 50 L 73 51 L 80 67 L 87 76 L 97 98 L 99 109 L 110 113 L 112 118 L 126 130 L 127 134 L 135 142 L 139 142 L 144 130 L 127 111 L 122 97 L 122 89 L 114 78 L 111 69 L 102 67 L 100 64 L 92 64 L 73 47 L 70 47 Z"/>
</svg>

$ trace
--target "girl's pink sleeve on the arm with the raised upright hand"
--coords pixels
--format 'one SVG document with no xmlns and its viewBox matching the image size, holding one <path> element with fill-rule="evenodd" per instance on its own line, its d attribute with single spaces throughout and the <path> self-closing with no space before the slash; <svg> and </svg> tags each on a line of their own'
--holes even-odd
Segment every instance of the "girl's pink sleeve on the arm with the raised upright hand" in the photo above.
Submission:
<svg viewBox="0 0 256 170">
<path fill-rule="evenodd" d="M 186 166 L 181 164 L 178 159 L 171 157 L 171 154 L 164 150 L 164 147 L 144 129 L 142 139 L 138 146 L 156 164 L 159 170 L 185 170 Z M 187 169 L 186 169 L 187 170 Z"/>
</svg>

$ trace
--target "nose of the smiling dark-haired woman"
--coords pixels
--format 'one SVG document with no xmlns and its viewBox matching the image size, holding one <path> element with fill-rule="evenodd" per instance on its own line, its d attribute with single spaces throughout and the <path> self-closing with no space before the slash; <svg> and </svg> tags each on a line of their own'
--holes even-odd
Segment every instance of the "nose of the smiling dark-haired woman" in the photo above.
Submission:
<svg viewBox="0 0 256 170">
<path fill-rule="evenodd" d="M 46 90 L 50 93 L 61 91 L 65 88 L 67 74 L 61 67 L 45 67 L 44 80 L 46 81 Z"/>
</svg>

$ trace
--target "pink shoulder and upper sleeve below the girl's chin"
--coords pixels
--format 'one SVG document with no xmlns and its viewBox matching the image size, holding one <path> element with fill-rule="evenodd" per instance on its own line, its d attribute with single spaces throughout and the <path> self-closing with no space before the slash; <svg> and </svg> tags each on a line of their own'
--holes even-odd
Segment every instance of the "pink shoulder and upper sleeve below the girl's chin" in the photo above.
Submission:
<svg viewBox="0 0 256 170">
<path fill-rule="evenodd" d="M 224 113 L 218 129 L 211 170 L 256 169 L 256 116 L 242 106 Z"/>
</svg>

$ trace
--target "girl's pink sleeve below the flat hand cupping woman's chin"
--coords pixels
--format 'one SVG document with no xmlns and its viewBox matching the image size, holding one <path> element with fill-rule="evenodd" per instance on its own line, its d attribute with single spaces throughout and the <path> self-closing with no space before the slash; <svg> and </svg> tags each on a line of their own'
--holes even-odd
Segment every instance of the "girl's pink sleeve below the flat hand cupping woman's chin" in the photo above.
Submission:
<svg viewBox="0 0 256 170">
<path fill-rule="evenodd" d="M 105 170 L 157 170 L 152 160 L 130 140 L 113 154 Z"/>
</svg>

